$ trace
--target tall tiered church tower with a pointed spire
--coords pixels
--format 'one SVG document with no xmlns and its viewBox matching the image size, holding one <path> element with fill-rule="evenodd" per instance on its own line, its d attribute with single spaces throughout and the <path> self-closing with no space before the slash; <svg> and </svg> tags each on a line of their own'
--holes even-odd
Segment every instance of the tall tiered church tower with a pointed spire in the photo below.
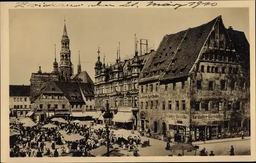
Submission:
<svg viewBox="0 0 256 163">
<path fill-rule="evenodd" d="M 66 28 L 66 20 L 64 21 L 64 30 L 61 38 L 59 72 L 63 78 L 70 79 L 70 77 L 73 75 L 73 68 L 71 62 L 71 51 L 69 49 L 70 41 Z"/>
</svg>

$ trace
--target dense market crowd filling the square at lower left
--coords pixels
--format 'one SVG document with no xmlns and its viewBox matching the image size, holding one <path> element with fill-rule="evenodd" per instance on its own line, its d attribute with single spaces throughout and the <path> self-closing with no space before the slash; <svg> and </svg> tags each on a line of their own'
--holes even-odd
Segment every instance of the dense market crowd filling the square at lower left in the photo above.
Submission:
<svg viewBox="0 0 256 163">
<path fill-rule="evenodd" d="M 54 123 L 56 127 L 42 128 L 49 122 L 39 122 L 33 127 L 24 127 L 22 123 L 15 122 L 12 125 L 19 129 L 19 134 L 14 135 L 15 139 L 10 141 L 10 157 L 42 157 L 42 156 L 65 156 L 90 157 L 91 151 L 107 145 L 107 133 L 104 127 L 94 129 L 91 125 L 79 125 L 78 123 Z M 66 141 L 68 135 L 80 135 L 81 139 Z M 12 137 L 12 136 L 11 136 Z M 10 137 L 10 139 L 11 139 Z M 123 141 L 122 141 L 122 139 Z M 134 156 L 138 156 L 139 136 L 129 136 L 124 139 L 113 131 L 109 133 L 110 146 L 118 144 L 123 150 L 134 150 Z M 48 148 L 46 143 L 50 143 Z M 57 150 L 56 145 L 60 148 Z M 126 148 L 127 147 L 127 148 Z"/>
</svg>

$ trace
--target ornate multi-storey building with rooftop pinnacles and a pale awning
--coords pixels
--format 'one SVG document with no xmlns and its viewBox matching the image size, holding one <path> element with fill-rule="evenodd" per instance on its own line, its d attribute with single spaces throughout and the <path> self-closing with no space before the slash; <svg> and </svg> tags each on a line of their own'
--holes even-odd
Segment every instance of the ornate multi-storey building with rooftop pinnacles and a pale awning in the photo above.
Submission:
<svg viewBox="0 0 256 163">
<path fill-rule="evenodd" d="M 118 56 L 119 55 L 119 56 Z M 137 127 L 138 112 L 138 77 L 148 59 L 153 58 L 155 51 L 138 56 L 137 41 L 135 56 L 131 59 L 120 60 L 120 49 L 117 49 L 117 58 L 114 65 L 105 65 L 100 61 L 95 63 L 95 104 L 100 110 L 109 101 L 110 109 L 114 111 L 113 122 L 126 125 L 127 128 Z M 132 122 L 132 123 L 130 123 Z"/>
</svg>

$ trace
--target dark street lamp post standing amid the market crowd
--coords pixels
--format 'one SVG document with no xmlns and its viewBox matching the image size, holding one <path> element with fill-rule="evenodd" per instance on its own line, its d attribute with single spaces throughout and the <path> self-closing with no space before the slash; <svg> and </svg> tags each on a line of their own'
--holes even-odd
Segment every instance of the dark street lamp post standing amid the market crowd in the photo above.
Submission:
<svg viewBox="0 0 256 163">
<path fill-rule="evenodd" d="M 109 126 L 111 124 L 111 120 L 113 118 L 113 113 L 110 112 L 109 110 L 109 101 L 106 101 L 106 109 L 105 113 L 103 114 L 103 118 L 105 121 L 105 126 L 106 126 L 106 152 L 107 156 L 110 156 L 110 131 L 109 131 Z"/>
</svg>

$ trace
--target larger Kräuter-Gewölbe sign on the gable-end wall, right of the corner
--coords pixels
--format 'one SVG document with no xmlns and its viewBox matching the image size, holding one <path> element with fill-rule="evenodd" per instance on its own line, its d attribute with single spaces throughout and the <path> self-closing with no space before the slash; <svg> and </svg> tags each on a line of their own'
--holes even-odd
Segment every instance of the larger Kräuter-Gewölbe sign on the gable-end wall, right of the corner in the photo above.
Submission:
<svg viewBox="0 0 256 163">
<path fill-rule="evenodd" d="M 192 114 L 192 121 L 223 121 L 224 114 Z"/>
</svg>

